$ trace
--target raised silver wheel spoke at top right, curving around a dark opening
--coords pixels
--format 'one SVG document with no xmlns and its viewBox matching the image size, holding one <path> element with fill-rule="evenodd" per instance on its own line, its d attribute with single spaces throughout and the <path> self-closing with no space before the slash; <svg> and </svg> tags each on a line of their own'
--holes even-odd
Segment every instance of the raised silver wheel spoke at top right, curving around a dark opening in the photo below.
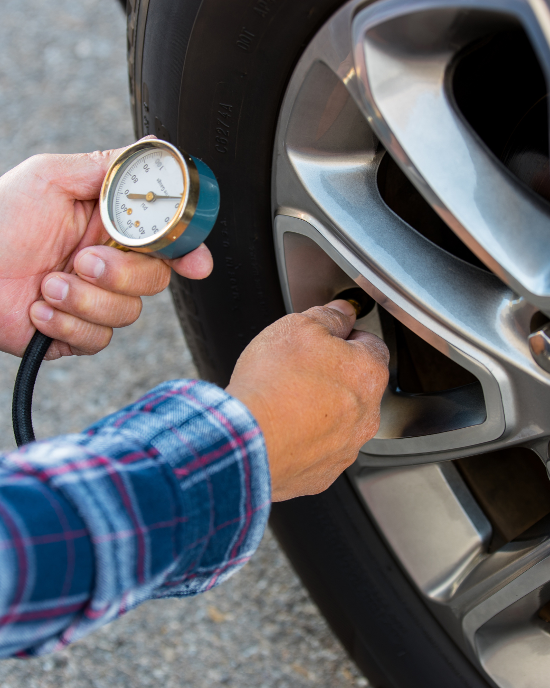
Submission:
<svg viewBox="0 0 550 688">
<path fill-rule="evenodd" d="M 434 0 L 419 12 L 414 3 L 394 3 L 388 16 L 377 3 L 358 14 L 354 47 L 366 108 L 384 143 L 454 232 L 516 292 L 550 312 L 550 208 L 488 153 L 448 94 L 454 56 L 487 33 L 487 15 L 468 12 L 471 3 L 460 5 L 450 9 Z M 520 21 L 550 58 L 525 3 L 507 3 L 506 14 L 494 3 L 489 7 L 493 30 Z M 422 28 L 430 30 L 429 41 L 418 39 Z M 529 241 L 520 228 L 528 228 Z"/>
</svg>

